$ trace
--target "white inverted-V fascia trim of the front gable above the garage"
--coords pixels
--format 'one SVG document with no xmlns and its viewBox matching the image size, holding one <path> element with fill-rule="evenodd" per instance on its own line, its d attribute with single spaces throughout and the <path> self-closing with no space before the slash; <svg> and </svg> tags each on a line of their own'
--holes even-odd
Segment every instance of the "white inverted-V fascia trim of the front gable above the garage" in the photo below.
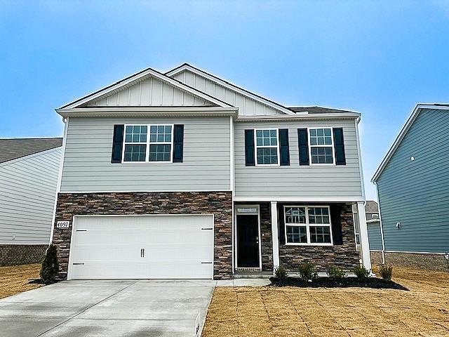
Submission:
<svg viewBox="0 0 449 337">
<path fill-rule="evenodd" d="M 199 90 L 196 90 L 195 88 L 192 88 L 191 86 L 187 86 L 187 84 L 183 84 L 182 82 L 172 79 L 171 77 L 161 74 L 160 72 L 156 72 L 156 70 L 148 68 L 146 70 L 142 70 L 141 72 L 137 72 L 136 74 L 133 74 L 130 77 L 126 77 L 125 79 L 122 79 L 121 81 L 118 81 L 115 84 L 106 86 L 105 88 L 102 88 L 99 91 L 95 91 L 86 96 L 83 96 L 82 98 L 79 98 L 78 100 L 74 100 L 72 103 L 63 105 L 60 109 L 71 109 L 74 107 L 79 107 L 80 105 L 91 102 L 92 100 L 100 98 L 102 95 L 106 95 L 107 93 L 116 91 L 119 88 L 127 86 L 133 81 L 137 81 L 138 79 L 142 79 L 142 77 L 146 76 L 152 76 L 155 77 L 156 79 L 160 79 L 161 81 L 164 81 L 172 86 L 175 86 L 176 88 L 179 88 L 182 91 L 187 91 L 188 93 L 192 93 L 192 95 L 196 95 L 199 96 L 200 98 L 203 98 L 203 100 L 207 100 L 208 102 L 214 103 L 219 107 L 232 107 L 232 105 L 229 105 L 228 103 L 225 103 L 222 100 L 218 100 L 217 98 L 214 98 L 213 96 L 210 96 L 207 93 L 203 93 Z"/>
</svg>

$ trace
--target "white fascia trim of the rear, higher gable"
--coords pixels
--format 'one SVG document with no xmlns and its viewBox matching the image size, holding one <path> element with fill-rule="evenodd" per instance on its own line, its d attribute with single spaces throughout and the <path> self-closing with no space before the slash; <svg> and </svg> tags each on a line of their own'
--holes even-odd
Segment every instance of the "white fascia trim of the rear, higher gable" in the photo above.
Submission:
<svg viewBox="0 0 449 337">
<path fill-rule="evenodd" d="M 260 95 L 256 95 L 255 93 L 250 93 L 250 91 L 246 91 L 242 88 L 239 88 L 238 86 L 235 86 L 234 84 L 231 84 L 228 81 L 224 81 L 218 77 L 210 75 L 210 74 L 203 72 L 199 69 L 196 69 L 195 67 L 192 67 L 190 65 L 182 65 L 180 67 L 177 67 L 173 70 L 170 70 L 169 72 L 166 72 L 166 75 L 172 77 L 172 76 L 175 76 L 176 74 L 179 74 L 180 72 L 183 72 L 184 70 L 189 70 L 189 72 L 193 72 L 194 74 L 197 74 L 201 77 L 205 77 L 206 79 L 209 79 L 210 81 L 220 84 L 220 86 L 224 86 L 225 88 L 228 88 L 231 91 L 240 93 L 241 95 L 251 98 L 252 100 L 256 100 L 257 102 L 260 102 L 264 105 L 268 105 L 269 107 L 279 110 L 285 114 L 295 114 L 295 112 L 287 109 L 286 107 L 284 107 L 283 105 L 280 105 L 279 103 L 274 103 L 271 100 L 267 100 L 266 98 L 263 98 Z"/>
</svg>

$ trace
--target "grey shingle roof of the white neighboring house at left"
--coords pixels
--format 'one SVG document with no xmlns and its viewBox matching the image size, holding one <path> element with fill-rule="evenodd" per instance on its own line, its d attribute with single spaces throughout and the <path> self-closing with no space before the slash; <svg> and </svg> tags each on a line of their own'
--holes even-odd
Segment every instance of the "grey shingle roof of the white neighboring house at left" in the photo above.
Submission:
<svg viewBox="0 0 449 337">
<path fill-rule="evenodd" d="M 62 138 L 0 139 L 0 164 L 62 146 Z"/>
</svg>

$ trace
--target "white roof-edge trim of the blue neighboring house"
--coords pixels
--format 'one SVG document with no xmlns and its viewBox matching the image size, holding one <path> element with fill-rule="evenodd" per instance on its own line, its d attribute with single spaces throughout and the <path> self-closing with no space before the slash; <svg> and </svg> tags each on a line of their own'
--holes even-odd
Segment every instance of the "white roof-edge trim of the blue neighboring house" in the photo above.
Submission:
<svg viewBox="0 0 449 337">
<path fill-rule="evenodd" d="M 380 166 L 375 171 L 373 178 L 371 178 L 371 181 L 373 183 L 375 183 L 377 181 L 377 179 L 382 174 L 382 171 L 384 171 L 385 166 L 387 166 L 391 157 L 393 157 L 393 154 L 394 154 L 394 152 L 396 152 L 396 149 L 398 148 L 398 146 L 401 145 L 403 138 L 406 136 L 408 130 L 410 129 L 410 127 L 412 126 L 413 122 L 415 121 L 418 114 L 420 114 L 422 109 L 449 110 L 449 103 L 418 103 L 415 106 L 415 109 L 413 109 L 412 113 L 406 120 L 406 123 L 401 128 L 401 131 L 399 131 L 398 136 L 396 136 L 396 139 L 394 140 L 393 144 L 389 148 L 387 154 L 385 154 L 384 159 L 382 159 L 382 162 L 380 163 Z"/>
</svg>

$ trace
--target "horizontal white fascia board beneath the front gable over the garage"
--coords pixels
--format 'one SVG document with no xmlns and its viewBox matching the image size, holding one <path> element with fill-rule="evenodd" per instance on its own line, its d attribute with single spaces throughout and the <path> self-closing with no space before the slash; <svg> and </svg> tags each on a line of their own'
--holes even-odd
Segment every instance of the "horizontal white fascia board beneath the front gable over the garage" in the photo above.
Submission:
<svg viewBox="0 0 449 337">
<path fill-rule="evenodd" d="M 238 110 L 236 107 L 74 107 L 56 112 L 62 117 L 236 117 Z"/>
</svg>

